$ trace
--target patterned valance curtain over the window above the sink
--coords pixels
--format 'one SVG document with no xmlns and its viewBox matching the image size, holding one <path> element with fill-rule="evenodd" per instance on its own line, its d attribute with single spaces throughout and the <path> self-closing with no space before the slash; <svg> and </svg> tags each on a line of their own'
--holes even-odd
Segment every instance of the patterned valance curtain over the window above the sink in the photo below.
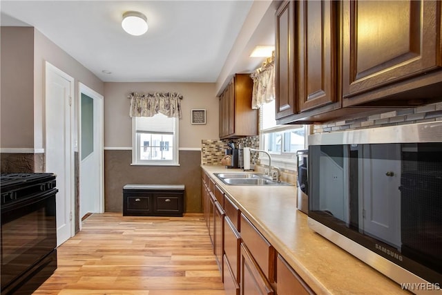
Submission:
<svg viewBox="0 0 442 295">
<path fill-rule="evenodd" d="M 275 67 L 273 59 L 273 56 L 267 58 L 262 66 L 250 75 L 253 79 L 251 108 L 260 108 L 262 104 L 275 99 Z"/>
</svg>

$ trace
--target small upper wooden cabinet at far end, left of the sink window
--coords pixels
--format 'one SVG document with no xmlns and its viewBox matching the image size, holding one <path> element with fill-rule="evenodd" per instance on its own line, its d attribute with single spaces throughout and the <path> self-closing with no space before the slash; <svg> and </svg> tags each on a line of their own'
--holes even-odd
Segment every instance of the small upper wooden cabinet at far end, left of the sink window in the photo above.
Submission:
<svg viewBox="0 0 442 295">
<path fill-rule="evenodd" d="M 258 135 L 258 110 L 251 108 L 253 80 L 236 74 L 220 95 L 220 138 Z"/>
</svg>

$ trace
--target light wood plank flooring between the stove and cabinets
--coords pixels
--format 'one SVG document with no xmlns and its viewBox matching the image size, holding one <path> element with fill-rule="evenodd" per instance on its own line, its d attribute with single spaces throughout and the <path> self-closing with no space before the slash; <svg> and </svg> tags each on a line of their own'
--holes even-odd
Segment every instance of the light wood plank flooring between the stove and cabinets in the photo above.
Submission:
<svg viewBox="0 0 442 295">
<path fill-rule="evenodd" d="M 34 294 L 224 295 L 202 214 L 93 214 Z"/>
</svg>

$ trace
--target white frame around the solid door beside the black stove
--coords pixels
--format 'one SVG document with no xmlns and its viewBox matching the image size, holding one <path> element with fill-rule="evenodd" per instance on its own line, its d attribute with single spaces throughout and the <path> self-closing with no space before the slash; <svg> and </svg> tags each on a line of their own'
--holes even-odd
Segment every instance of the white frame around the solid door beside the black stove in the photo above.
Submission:
<svg viewBox="0 0 442 295">
<path fill-rule="evenodd" d="M 57 68 L 56 66 L 50 64 L 50 62 L 45 61 L 45 95 L 44 95 L 44 143 L 45 143 L 45 158 L 46 158 L 46 149 L 48 146 L 48 125 L 46 124 L 46 120 L 47 120 L 47 115 L 48 115 L 48 108 L 50 107 L 48 104 L 48 88 L 49 88 L 49 72 L 55 73 L 55 75 L 59 75 L 60 77 L 66 79 L 69 84 L 70 84 L 70 93 L 69 93 L 69 102 L 68 104 L 70 105 L 69 108 L 69 113 L 68 113 L 68 121 L 69 121 L 69 125 L 70 125 L 70 129 L 69 129 L 69 134 L 66 134 L 66 138 L 68 138 L 68 142 L 70 142 L 70 144 L 67 144 L 66 147 L 68 147 L 68 149 L 66 149 L 64 151 L 64 155 L 65 157 L 68 159 L 68 161 L 66 161 L 68 163 L 68 167 L 65 167 L 65 173 L 66 173 L 66 184 L 69 185 L 69 188 L 66 190 L 68 193 L 68 196 L 66 196 L 66 198 L 68 198 L 69 200 L 66 200 L 66 202 L 70 203 L 70 218 L 69 218 L 69 222 L 70 222 L 70 238 L 72 238 L 73 236 L 75 236 L 75 216 L 73 214 L 73 209 L 75 208 L 75 177 L 73 175 L 73 170 L 75 167 L 75 149 L 74 149 L 74 108 L 72 105 L 72 98 L 75 96 L 74 94 L 74 83 L 75 83 L 75 79 L 73 77 L 70 77 L 70 75 L 64 73 L 64 71 L 60 70 L 59 68 Z M 64 115 L 66 115 L 67 112 L 65 112 Z M 46 161 L 46 160 L 45 160 Z M 46 171 L 46 164 L 45 164 L 45 171 Z M 48 171 L 46 171 L 48 172 Z M 64 242 L 64 241 L 63 241 Z M 61 245 L 61 242 L 59 243 L 57 241 L 58 245 Z M 57 246 L 58 246 L 57 245 Z"/>
</svg>

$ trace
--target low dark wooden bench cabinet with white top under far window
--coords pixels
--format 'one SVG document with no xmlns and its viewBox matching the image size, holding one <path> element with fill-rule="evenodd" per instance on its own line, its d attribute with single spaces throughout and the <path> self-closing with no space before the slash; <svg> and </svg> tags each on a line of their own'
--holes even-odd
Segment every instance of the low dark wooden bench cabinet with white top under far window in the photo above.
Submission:
<svg viewBox="0 0 442 295">
<path fill-rule="evenodd" d="M 182 184 L 126 184 L 123 187 L 123 216 L 182 216 Z"/>
</svg>

